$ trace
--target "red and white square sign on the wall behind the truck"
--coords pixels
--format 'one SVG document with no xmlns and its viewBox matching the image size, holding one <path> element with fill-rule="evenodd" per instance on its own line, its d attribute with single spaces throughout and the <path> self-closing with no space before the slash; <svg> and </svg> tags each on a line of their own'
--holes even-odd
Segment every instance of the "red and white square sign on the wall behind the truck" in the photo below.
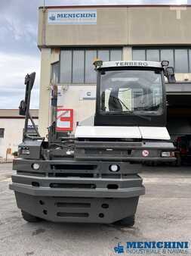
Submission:
<svg viewBox="0 0 191 256">
<path fill-rule="evenodd" d="M 58 132 L 73 130 L 73 109 L 57 108 Z"/>
</svg>

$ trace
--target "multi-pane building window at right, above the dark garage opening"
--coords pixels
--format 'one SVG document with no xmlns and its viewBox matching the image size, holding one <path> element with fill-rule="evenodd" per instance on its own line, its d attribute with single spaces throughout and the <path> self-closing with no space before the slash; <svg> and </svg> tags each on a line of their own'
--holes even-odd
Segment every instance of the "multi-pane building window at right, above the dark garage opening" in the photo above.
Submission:
<svg viewBox="0 0 191 256">
<path fill-rule="evenodd" d="M 133 48 L 134 61 L 169 61 L 175 73 L 191 73 L 191 48 Z"/>
</svg>

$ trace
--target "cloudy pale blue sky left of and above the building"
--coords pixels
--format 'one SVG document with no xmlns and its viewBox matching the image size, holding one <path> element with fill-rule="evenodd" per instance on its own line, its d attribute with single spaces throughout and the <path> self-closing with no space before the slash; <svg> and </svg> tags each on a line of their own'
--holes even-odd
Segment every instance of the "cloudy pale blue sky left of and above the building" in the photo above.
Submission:
<svg viewBox="0 0 191 256">
<path fill-rule="evenodd" d="M 38 7 L 44 0 L 0 1 L 0 108 L 18 108 L 26 73 L 36 72 L 31 108 L 39 108 Z M 191 0 L 45 0 L 45 5 L 191 5 Z"/>
</svg>

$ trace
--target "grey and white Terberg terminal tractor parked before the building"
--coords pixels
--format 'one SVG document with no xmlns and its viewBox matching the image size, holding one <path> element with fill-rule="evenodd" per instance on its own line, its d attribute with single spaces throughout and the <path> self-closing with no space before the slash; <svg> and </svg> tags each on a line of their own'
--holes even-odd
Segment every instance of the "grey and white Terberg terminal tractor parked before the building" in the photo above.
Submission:
<svg viewBox="0 0 191 256">
<path fill-rule="evenodd" d="M 97 99 L 93 122 L 66 136 L 56 130 L 48 140 L 27 133 L 29 98 L 35 74 L 26 77 L 26 115 L 19 158 L 10 188 L 29 222 L 122 223 L 134 225 L 141 163 L 174 161 L 174 145 L 165 128 L 165 64 L 149 61 L 96 61 Z M 56 108 L 55 102 L 53 107 Z M 53 109 L 54 109 L 53 108 Z M 33 123 L 34 124 L 34 123 Z M 35 124 L 34 124 L 35 126 Z"/>
</svg>

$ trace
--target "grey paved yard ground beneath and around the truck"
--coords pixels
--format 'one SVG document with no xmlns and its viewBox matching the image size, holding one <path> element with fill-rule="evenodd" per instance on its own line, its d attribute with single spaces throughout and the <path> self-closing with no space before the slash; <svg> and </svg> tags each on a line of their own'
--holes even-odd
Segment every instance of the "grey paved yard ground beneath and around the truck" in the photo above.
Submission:
<svg viewBox="0 0 191 256">
<path fill-rule="evenodd" d="M 190 246 L 191 167 L 144 167 L 146 195 L 140 197 L 132 228 L 26 223 L 8 189 L 11 173 L 11 164 L 0 164 L 0 255 L 117 255 L 114 247 L 120 242 L 125 248 L 127 241 L 188 241 Z M 191 255 L 191 248 L 187 252 Z"/>
</svg>

